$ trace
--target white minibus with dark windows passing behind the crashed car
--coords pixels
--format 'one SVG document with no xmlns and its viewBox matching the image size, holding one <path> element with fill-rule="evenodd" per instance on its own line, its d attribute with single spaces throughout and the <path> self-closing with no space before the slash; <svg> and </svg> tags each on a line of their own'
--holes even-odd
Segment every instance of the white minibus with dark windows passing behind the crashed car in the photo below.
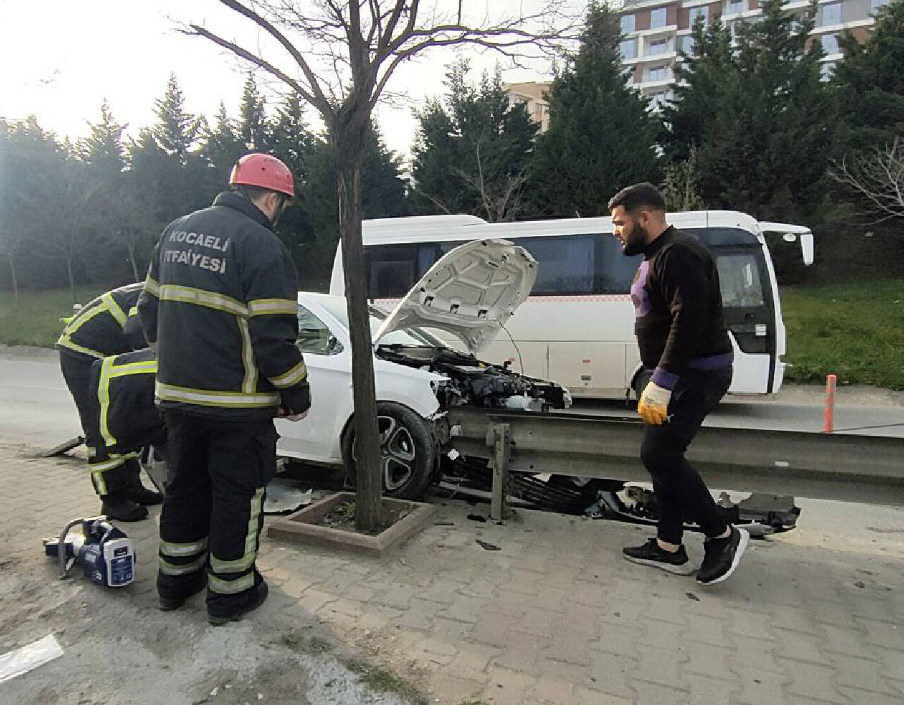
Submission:
<svg viewBox="0 0 904 705">
<path fill-rule="evenodd" d="M 735 351 L 730 393 L 777 392 L 785 371 L 785 324 L 765 233 L 799 239 L 807 265 L 813 262 L 813 234 L 736 211 L 674 212 L 668 221 L 701 240 L 715 258 Z M 575 397 L 617 397 L 637 389 L 645 372 L 629 289 L 641 256 L 622 254 L 609 218 L 487 223 L 437 215 L 364 221 L 368 297 L 391 309 L 449 249 L 484 238 L 512 240 L 540 263 L 531 296 L 481 355 L 485 360 L 560 382 Z M 341 248 L 330 293 L 344 295 Z"/>
</svg>

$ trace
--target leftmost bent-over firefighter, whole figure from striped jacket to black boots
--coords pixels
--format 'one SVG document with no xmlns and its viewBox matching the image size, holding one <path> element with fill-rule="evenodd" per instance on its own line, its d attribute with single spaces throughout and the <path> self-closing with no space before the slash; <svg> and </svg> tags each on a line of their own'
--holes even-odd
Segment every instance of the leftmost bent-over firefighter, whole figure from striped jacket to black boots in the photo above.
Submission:
<svg viewBox="0 0 904 705">
<path fill-rule="evenodd" d="M 147 346 L 136 308 L 142 287 L 140 283 L 130 284 L 98 296 L 76 315 L 64 319 L 66 326 L 56 343 L 63 379 L 79 411 L 91 484 L 100 495 L 100 512 L 120 522 L 145 519 L 145 506 L 161 503 L 162 497 L 141 484 L 137 453 L 98 456 L 98 437 L 89 421 L 93 401 L 89 381 L 93 362 Z"/>
</svg>

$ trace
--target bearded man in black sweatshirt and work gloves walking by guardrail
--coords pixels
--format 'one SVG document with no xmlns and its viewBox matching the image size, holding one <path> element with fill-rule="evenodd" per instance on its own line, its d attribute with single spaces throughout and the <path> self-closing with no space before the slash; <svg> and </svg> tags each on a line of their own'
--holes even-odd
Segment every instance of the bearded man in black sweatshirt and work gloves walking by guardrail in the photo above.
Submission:
<svg viewBox="0 0 904 705">
<path fill-rule="evenodd" d="M 682 544 L 683 519 L 706 540 L 697 582 L 721 582 L 738 567 L 749 534 L 720 516 L 702 477 L 684 452 L 728 391 L 733 352 L 719 274 L 709 250 L 665 221 L 665 201 L 651 183 L 618 192 L 608 204 L 626 255 L 644 255 L 631 287 L 641 362 L 650 375 L 637 404 L 646 422 L 641 459 L 660 506 L 656 538 L 624 549 L 635 563 L 691 574 Z"/>
</svg>

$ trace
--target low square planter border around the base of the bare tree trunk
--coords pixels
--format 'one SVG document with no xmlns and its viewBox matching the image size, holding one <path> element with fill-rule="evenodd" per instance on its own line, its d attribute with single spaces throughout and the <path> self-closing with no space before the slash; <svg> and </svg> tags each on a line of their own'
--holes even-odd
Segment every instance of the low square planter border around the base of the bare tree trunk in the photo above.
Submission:
<svg viewBox="0 0 904 705">
<path fill-rule="evenodd" d="M 276 521 L 270 522 L 267 535 L 274 539 L 381 556 L 393 544 L 420 531 L 437 511 L 432 504 L 383 497 L 384 510 L 401 510 L 408 513 L 375 536 L 323 526 L 320 523 L 323 518 L 344 502 L 354 502 L 354 494 L 339 492 L 288 516 L 280 517 Z"/>
</svg>

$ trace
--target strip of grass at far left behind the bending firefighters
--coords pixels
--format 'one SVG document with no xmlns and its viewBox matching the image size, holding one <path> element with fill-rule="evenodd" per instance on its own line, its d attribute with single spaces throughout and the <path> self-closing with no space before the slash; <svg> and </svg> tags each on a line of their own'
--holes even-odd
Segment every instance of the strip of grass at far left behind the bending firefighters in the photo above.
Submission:
<svg viewBox="0 0 904 705">
<path fill-rule="evenodd" d="M 75 287 L 75 300 L 87 304 L 108 287 Z M 0 292 L 0 343 L 36 345 L 49 348 L 62 331 L 61 316 L 71 315 L 72 300 L 68 288 L 48 291 L 23 291 L 19 303 L 13 292 Z"/>
</svg>

